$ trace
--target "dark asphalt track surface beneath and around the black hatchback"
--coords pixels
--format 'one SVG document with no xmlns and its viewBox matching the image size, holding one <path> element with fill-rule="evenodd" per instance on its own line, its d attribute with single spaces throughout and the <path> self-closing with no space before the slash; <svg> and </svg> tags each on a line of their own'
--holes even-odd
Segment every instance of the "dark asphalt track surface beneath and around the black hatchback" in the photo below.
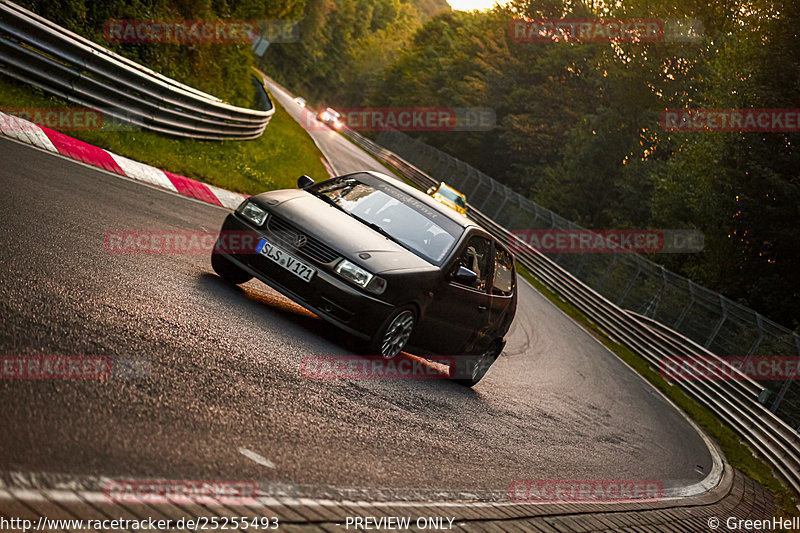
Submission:
<svg viewBox="0 0 800 533">
<path fill-rule="evenodd" d="M 245 479 L 275 494 L 451 500 L 503 498 L 519 478 L 678 487 L 710 470 L 681 414 L 524 283 L 504 355 L 474 389 L 308 379 L 304 357 L 353 341 L 257 281 L 224 283 L 207 253 L 104 248 L 115 230 L 215 231 L 224 209 L 6 139 L 0 153 L 0 354 L 114 368 L 0 380 L 5 483 Z"/>
</svg>

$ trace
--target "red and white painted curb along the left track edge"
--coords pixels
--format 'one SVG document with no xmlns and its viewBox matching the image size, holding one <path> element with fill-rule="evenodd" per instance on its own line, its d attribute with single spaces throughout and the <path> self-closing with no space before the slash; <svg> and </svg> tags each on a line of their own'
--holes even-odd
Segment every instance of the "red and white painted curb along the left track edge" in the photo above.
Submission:
<svg viewBox="0 0 800 533">
<path fill-rule="evenodd" d="M 156 187 L 220 207 L 235 209 L 247 198 L 243 194 L 226 191 L 185 176 L 139 163 L 3 112 L 0 112 L 0 134 L 136 181 L 155 185 Z"/>
</svg>

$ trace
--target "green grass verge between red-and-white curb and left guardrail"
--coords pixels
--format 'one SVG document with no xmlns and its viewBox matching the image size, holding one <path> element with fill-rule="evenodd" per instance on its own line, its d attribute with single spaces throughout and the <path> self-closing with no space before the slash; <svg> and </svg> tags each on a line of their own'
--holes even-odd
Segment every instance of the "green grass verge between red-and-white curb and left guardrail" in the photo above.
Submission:
<svg viewBox="0 0 800 533">
<path fill-rule="evenodd" d="M 274 98 L 272 101 L 275 114 L 264 134 L 251 141 L 199 141 L 119 128 L 60 131 L 130 159 L 245 194 L 294 188 L 301 174 L 327 178 L 322 154 L 311 137 Z M 70 104 L 0 77 L 2 110 L 62 107 Z"/>
</svg>

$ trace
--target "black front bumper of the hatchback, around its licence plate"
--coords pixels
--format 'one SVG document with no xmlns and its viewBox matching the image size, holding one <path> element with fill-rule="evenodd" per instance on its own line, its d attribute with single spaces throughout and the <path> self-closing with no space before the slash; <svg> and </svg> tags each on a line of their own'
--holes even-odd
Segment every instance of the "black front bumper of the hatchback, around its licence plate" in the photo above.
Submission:
<svg viewBox="0 0 800 533">
<path fill-rule="evenodd" d="M 286 246 L 266 227 L 256 228 L 235 214 L 225 219 L 222 232 L 223 235 L 228 232 L 234 235 L 252 234 L 250 239 L 241 239 L 242 242 L 252 243 L 252 249 L 239 247 L 232 251 L 217 246 L 214 253 L 223 255 L 284 296 L 353 335 L 371 338 L 394 310 L 392 304 L 362 292 L 334 273 L 333 267 L 338 259 L 329 263 L 315 260 Z M 312 265 L 317 273 L 311 281 L 299 279 L 256 252 L 255 246 L 262 237 Z"/>
</svg>

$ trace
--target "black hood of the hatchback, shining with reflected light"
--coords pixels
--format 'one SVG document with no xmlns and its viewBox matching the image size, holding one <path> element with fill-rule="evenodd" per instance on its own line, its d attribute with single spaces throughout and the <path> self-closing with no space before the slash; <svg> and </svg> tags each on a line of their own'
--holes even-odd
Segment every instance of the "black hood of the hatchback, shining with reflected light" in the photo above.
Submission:
<svg viewBox="0 0 800 533">
<path fill-rule="evenodd" d="M 272 213 L 375 274 L 391 270 L 436 269 L 428 261 L 306 191 L 271 191 L 253 198 Z M 364 253 L 370 257 L 359 257 Z"/>
</svg>

